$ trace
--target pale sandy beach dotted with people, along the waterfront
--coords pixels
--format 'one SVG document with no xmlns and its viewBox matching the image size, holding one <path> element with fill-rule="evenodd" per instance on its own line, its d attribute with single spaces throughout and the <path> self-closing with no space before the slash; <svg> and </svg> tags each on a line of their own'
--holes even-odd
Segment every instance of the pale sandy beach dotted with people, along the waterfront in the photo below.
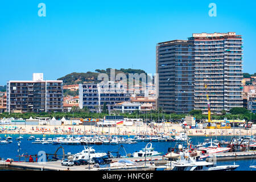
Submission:
<svg viewBox="0 0 256 182">
<path fill-rule="evenodd" d="M 16 127 L 15 130 L 2 130 L 2 134 L 66 134 L 66 135 L 157 135 L 163 133 L 164 135 L 179 135 L 184 132 L 184 129 L 179 124 L 168 123 L 164 126 L 117 126 L 117 127 L 97 127 L 97 126 L 83 126 L 83 125 L 61 125 L 61 126 L 49 126 L 49 125 L 1 125 L 1 127 L 9 128 Z M 56 129 L 56 133 L 55 133 Z M 256 129 L 186 129 L 188 135 L 201 135 L 210 137 L 212 135 L 255 135 Z M 1 134 L 1 133 L 0 133 Z"/>
</svg>

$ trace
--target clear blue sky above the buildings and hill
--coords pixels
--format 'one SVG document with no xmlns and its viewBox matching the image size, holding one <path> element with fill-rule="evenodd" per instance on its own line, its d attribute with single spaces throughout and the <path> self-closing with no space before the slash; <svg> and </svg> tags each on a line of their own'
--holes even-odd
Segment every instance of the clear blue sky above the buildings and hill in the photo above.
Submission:
<svg viewBox="0 0 256 182">
<path fill-rule="evenodd" d="M 39 3 L 46 17 L 38 16 Z M 210 17 L 209 3 L 217 16 Z M 0 3 L 0 85 L 106 68 L 155 73 L 155 46 L 192 33 L 237 32 L 243 72 L 255 71 L 256 1 L 57 1 Z"/>
</svg>

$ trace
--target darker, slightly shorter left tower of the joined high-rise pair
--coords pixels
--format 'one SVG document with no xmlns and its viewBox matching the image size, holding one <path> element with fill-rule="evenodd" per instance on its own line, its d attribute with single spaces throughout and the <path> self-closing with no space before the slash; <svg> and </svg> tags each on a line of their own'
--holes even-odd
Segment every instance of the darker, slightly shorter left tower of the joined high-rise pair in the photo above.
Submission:
<svg viewBox="0 0 256 182">
<path fill-rule="evenodd" d="M 167 113 L 187 113 L 194 107 L 192 52 L 193 44 L 187 40 L 172 40 L 156 46 L 156 105 Z"/>
</svg>

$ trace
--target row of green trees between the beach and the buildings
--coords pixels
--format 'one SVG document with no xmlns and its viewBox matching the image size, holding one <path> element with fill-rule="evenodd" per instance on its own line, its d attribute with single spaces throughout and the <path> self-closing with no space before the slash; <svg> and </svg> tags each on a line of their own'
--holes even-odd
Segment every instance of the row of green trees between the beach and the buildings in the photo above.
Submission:
<svg viewBox="0 0 256 182">
<path fill-rule="evenodd" d="M 246 111 L 245 113 L 243 112 L 243 108 L 239 109 L 234 109 L 233 114 L 222 114 L 222 115 L 216 115 L 216 114 L 212 114 L 211 117 L 212 119 L 245 119 L 246 121 L 251 121 L 252 122 L 256 122 L 256 115 L 253 113 L 250 113 L 250 111 Z M 143 119 L 148 119 L 148 120 L 154 120 L 154 121 L 158 121 L 158 118 L 161 120 L 161 118 L 166 119 L 167 121 L 170 121 L 170 118 L 172 121 L 175 121 L 176 119 L 182 119 L 185 118 L 186 115 L 193 115 L 193 117 L 195 117 L 197 119 L 197 121 L 203 121 L 204 119 L 208 119 L 208 115 L 207 114 L 201 114 L 201 111 L 198 110 L 192 110 L 189 114 L 175 114 L 175 113 L 171 113 L 171 114 L 166 114 L 166 113 L 162 113 L 162 111 L 156 111 L 156 110 L 151 110 L 148 113 L 141 113 L 139 111 L 133 113 L 133 114 L 128 114 L 128 113 L 112 113 L 113 114 L 117 114 L 117 115 L 123 115 L 125 118 L 143 118 Z M 108 110 L 105 110 L 104 113 L 90 113 L 90 111 L 86 108 L 84 109 L 79 109 L 79 107 L 73 107 L 70 113 L 24 113 L 24 114 L 19 114 L 19 113 L 2 113 L 0 114 L 0 118 L 10 118 L 10 117 L 14 117 L 14 118 L 23 118 L 23 119 L 28 119 L 30 118 L 30 116 L 32 116 L 32 118 L 35 117 L 55 117 L 56 119 L 61 119 L 62 117 L 65 118 L 103 118 L 105 115 L 109 115 L 108 114 Z"/>
</svg>

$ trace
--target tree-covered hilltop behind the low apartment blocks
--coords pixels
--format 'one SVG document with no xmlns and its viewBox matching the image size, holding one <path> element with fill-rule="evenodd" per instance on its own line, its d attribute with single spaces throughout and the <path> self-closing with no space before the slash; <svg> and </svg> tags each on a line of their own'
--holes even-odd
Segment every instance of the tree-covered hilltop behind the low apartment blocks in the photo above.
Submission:
<svg viewBox="0 0 256 182">
<path fill-rule="evenodd" d="M 96 69 L 95 71 L 97 72 L 86 72 L 86 73 L 70 73 L 64 77 L 58 78 L 57 80 L 63 80 L 63 84 L 64 85 L 73 85 L 73 84 L 81 84 L 81 83 L 98 83 L 100 82 L 99 80 L 97 80 L 98 75 L 100 73 L 106 73 L 109 77 L 110 77 L 110 69 L 111 68 L 107 68 L 106 70 L 104 69 Z M 126 77 L 128 78 L 129 73 L 145 73 L 147 75 L 146 72 L 144 72 L 142 69 L 115 69 L 115 75 L 117 75 L 118 73 L 124 73 L 126 75 Z M 127 79 L 128 80 L 128 79 Z"/>
</svg>

